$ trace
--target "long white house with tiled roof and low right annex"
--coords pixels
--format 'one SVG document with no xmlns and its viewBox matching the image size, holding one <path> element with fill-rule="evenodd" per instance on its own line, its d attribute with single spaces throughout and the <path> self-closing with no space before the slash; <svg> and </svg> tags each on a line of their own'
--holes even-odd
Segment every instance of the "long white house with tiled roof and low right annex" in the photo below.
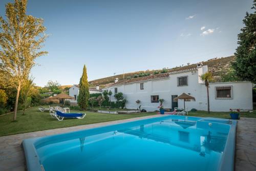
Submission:
<svg viewBox="0 0 256 171">
<path fill-rule="evenodd" d="M 207 93 L 200 75 L 207 72 L 207 66 L 202 63 L 197 68 L 180 70 L 164 74 L 156 74 L 139 78 L 118 81 L 115 79 L 108 88 L 114 94 L 122 92 L 127 99 L 127 109 L 137 109 L 136 100 L 140 100 L 141 109 L 157 111 L 159 99 L 164 99 L 164 108 L 183 108 L 183 100 L 174 101 L 182 93 L 196 98 L 196 101 L 186 101 L 188 110 L 193 108 L 207 111 Z M 229 111 L 229 109 L 252 110 L 251 82 L 215 82 L 209 85 L 210 111 Z"/>
</svg>

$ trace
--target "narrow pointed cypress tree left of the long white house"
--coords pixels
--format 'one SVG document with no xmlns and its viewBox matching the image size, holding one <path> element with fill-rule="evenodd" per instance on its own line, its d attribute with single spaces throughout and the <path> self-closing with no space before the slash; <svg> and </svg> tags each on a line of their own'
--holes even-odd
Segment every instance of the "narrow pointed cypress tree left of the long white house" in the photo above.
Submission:
<svg viewBox="0 0 256 171">
<path fill-rule="evenodd" d="M 82 77 L 80 78 L 80 83 L 79 83 L 79 95 L 77 98 L 77 102 L 81 110 L 86 110 L 88 106 L 89 97 L 90 97 L 90 93 L 89 93 L 87 69 L 86 69 L 86 65 L 84 65 Z"/>
</svg>

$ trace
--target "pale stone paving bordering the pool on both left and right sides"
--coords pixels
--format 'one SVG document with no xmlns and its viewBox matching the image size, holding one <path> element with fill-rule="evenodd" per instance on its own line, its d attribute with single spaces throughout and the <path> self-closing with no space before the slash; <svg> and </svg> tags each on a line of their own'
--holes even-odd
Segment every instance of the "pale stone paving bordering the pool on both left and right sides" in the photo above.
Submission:
<svg viewBox="0 0 256 171">
<path fill-rule="evenodd" d="M 25 158 L 23 149 L 20 146 L 23 139 L 66 133 L 71 131 L 90 129 L 98 126 L 105 126 L 129 121 L 135 121 L 145 118 L 162 117 L 164 115 L 152 115 L 140 118 L 131 118 L 102 122 L 88 125 L 65 127 L 61 129 L 38 131 L 0 137 L 0 170 L 25 170 Z M 238 122 L 237 146 L 236 146 L 236 171 L 256 170 L 256 119 L 241 118 Z"/>
</svg>

